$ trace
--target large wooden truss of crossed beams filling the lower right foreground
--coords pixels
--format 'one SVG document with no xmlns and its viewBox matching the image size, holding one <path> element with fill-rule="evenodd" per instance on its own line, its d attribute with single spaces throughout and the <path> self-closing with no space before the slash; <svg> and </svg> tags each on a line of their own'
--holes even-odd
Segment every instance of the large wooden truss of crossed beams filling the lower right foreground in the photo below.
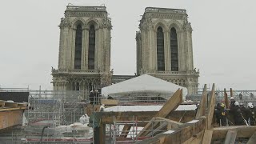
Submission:
<svg viewBox="0 0 256 144">
<path fill-rule="evenodd" d="M 206 107 L 206 85 L 204 86 L 201 102 L 198 106 L 198 111 L 195 119 L 186 123 L 170 121 L 170 119 L 165 118 L 166 114 L 171 113 L 180 104 L 178 99 L 182 98 L 182 92 L 181 90 L 177 90 L 177 92 L 170 98 L 170 101 L 166 102 L 167 106 L 175 106 L 171 106 L 169 109 L 159 110 L 158 114 L 156 114 L 156 117 L 152 118 L 152 120 L 144 127 L 143 130 L 146 131 L 142 130 L 141 133 L 138 134 L 138 136 L 148 136 L 147 134 L 151 134 L 152 136 L 153 134 L 154 137 L 138 143 L 210 144 L 213 143 L 215 140 L 222 139 L 224 141 L 225 139 L 225 144 L 233 144 L 236 138 L 249 138 L 249 141 L 247 143 L 256 143 L 256 126 L 225 126 L 214 128 L 214 89 L 215 87 L 213 85 L 210 92 L 210 102 L 208 104 L 208 107 Z M 163 108 L 166 107 L 166 105 L 163 106 Z M 155 124 L 154 121 L 156 119 L 161 119 L 163 121 L 160 124 Z M 149 131 L 147 126 L 152 125 L 152 123 L 154 123 L 154 130 L 151 129 L 151 131 Z M 159 130 L 167 131 L 157 134 L 157 131 Z"/>
</svg>

